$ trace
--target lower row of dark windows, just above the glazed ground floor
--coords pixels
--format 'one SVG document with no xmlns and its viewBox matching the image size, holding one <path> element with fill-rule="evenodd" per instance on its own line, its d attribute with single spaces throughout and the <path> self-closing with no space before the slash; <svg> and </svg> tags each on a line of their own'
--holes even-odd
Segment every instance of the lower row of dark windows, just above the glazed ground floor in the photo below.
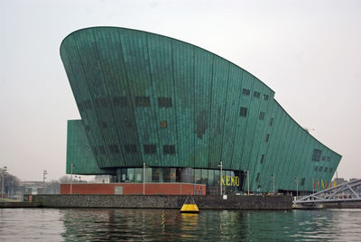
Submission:
<svg viewBox="0 0 361 242">
<path fill-rule="evenodd" d="M 175 154 L 175 145 L 174 144 L 164 144 L 163 146 L 163 154 Z M 107 145 L 108 150 L 111 154 L 119 154 L 119 147 L 117 144 L 109 144 Z M 125 144 L 125 153 L 134 154 L 137 153 L 137 147 L 135 144 Z M 104 145 L 99 145 L 98 147 L 94 147 L 94 154 L 106 154 L 106 148 Z M 144 154 L 156 154 L 157 147 L 155 144 L 143 144 L 143 152 Z"/>
</svg>

